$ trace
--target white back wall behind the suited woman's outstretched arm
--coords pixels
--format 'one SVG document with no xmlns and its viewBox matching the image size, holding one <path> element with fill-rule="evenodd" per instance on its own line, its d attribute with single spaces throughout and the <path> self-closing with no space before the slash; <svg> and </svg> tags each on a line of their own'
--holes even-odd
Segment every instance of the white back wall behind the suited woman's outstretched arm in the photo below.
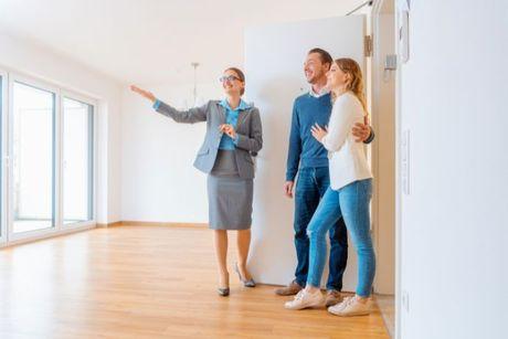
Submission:
<svg viewBox="0 0 508 339">
<path fill-rule="evenodd" d="M 142 87 L 176 107 L 192 102 L 192 84 Z M 198 84 L 198 95 L 221 99 L 221 84 Z M 208 223 L 207 177 L 192 166 L 207 125 L 177 124 L 127 87 L 121 123 L 121 220 Z"/>
</svg>

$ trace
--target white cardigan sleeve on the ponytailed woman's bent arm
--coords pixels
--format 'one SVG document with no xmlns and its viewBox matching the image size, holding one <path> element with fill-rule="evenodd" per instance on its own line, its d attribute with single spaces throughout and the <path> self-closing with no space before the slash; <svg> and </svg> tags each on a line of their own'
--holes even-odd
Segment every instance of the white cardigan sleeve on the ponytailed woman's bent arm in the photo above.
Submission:
<svg viewBox="0 0 508 339">
<path fill-rule="evenodd" d="M 328 134 L 321 140 L 328 151 L 339 151 L 351 131 L 356 108 L 353 99 L 349 94 L 343 94 L 334 104 Z"/>
</svg>

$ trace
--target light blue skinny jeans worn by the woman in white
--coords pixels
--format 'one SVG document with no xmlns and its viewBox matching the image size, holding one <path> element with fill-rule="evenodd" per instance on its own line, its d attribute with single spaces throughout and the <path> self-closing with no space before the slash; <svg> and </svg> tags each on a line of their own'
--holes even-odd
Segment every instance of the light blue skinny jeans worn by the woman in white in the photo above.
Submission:
<svg viewBox="0 0 508 339">
<path fill-rule="evenodd" d="M 338 191 L 329 188 L 308 226 L 310 240 L 307 284 L 319 287 L 326 258 L 326 233 L 342 216 L 358 254 L 357 295 L 368 297 L 372 290 L 375 256 L 370 237 L 369 203 L 372 179 L 354 181 Z"/>
</svg>

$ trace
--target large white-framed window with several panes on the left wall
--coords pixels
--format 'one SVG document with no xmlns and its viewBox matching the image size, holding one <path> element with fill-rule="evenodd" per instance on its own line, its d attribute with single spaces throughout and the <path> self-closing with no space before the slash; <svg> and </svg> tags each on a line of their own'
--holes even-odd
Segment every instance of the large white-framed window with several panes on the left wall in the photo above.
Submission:
<svg viewBox="0 0 508 339">
<path fill-rule="evenodd" d="M 0 243 L 94 225 L 95 107 L 0 70 Z"/>
</svg>

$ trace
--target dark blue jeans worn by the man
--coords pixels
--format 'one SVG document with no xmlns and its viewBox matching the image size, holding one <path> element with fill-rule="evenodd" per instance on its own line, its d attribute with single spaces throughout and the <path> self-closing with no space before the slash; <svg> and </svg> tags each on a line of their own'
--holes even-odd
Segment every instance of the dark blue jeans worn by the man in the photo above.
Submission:
<svg viewBox="0 0 508 339">
<path fill-rule="evenodd" d="M 328 167 L 301 168 L 295 190 L 295 247 L 298 259 L 295 279 L 300 286 L 307 283 L 309 267 L 309 239 L 307 226 L 330 187 Z M 330 261 L 327 289 L 342 289 L 342 275 L 348 261 L 348 233 L 339 218 L 330 227 Z"/>
</svg>

